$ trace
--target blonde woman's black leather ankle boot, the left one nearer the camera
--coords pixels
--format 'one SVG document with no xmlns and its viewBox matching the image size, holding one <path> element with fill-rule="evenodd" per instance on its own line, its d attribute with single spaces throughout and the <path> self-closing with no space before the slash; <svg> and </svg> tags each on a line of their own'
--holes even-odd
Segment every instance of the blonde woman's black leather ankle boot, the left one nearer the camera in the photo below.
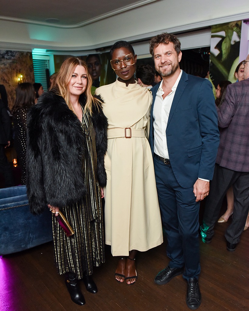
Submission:
<svg viewBox="0 0 249 311">
<path fill-rule="evenodd" d="M 73 302 L 83 306 L 86 303 L 86 300 L 80 290 L 78 280 L 73 272 L 66 273 L 65 283 Z"/>
</svg>

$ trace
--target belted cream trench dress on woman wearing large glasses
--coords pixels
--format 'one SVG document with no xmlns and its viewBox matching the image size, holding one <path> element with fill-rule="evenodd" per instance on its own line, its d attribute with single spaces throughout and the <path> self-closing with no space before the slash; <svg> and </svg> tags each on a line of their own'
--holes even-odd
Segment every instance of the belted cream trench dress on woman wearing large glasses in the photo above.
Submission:
<svg viewBox="0 0 249 311">
<path fill-rule="evenodd" d="M 162 244 L 162 223 L 148 132 L 151 92 L 116 80 L 97 88 L 108 119 L 105 157 L 106 244 L 113 256 Z M 125 130 L 125 128 L 127 128 Z M 126 136 L 126 137 L 125 137 Z"/>
</svg>

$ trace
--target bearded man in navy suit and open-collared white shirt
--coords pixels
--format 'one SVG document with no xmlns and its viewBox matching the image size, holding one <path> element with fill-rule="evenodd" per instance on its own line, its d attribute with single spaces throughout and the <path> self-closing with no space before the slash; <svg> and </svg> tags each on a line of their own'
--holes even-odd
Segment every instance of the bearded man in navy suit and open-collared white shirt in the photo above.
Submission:
<svg viewBox="0 0 249 311">
<path fill-rule="evenodd" d="M 181 43 L 162 33 L 150 40 L 150 53 L 162 81 L 152 88 L 149 142 L 154 156 L 169 265 L 155 283 L 183 273 L 187 306 L 200 306 L 199 207 L 209 194 L 219 145 L 211 83 L 180 70 Z"/>
</svg>

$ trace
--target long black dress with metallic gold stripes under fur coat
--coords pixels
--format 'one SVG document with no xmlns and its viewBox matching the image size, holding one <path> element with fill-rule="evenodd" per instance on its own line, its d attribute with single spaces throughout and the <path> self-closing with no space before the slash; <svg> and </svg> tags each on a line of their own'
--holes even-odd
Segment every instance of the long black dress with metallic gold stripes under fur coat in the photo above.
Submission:
<svg viewBox="0 0 249 311">
<path fill-rule="evenodd" d="M 82 109 L 82 129 L 86 137 L 82 160 L 87 195 L 82 202 L 61 209 L 75 234 L 66 237 L 53 216 L 54 259 L 59 274 L 74 272 L 82 279 L 84 271 L 93 273 L 93 266 L 105 261 L 101 194 L 97 181 L 96 134 L 88 112 Z"/>
</svg>

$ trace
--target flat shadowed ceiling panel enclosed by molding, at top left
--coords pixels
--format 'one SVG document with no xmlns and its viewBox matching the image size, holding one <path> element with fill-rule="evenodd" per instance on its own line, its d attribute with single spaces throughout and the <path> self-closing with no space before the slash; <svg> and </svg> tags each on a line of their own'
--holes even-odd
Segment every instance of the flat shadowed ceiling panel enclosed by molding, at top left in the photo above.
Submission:
<svg viewBox="0 0 249 311">
<path fill-rule="evenodd" d="M 54 26 L 83 26 L 157 0 L 1 0 L 0 19 Z"/>
</svg>

